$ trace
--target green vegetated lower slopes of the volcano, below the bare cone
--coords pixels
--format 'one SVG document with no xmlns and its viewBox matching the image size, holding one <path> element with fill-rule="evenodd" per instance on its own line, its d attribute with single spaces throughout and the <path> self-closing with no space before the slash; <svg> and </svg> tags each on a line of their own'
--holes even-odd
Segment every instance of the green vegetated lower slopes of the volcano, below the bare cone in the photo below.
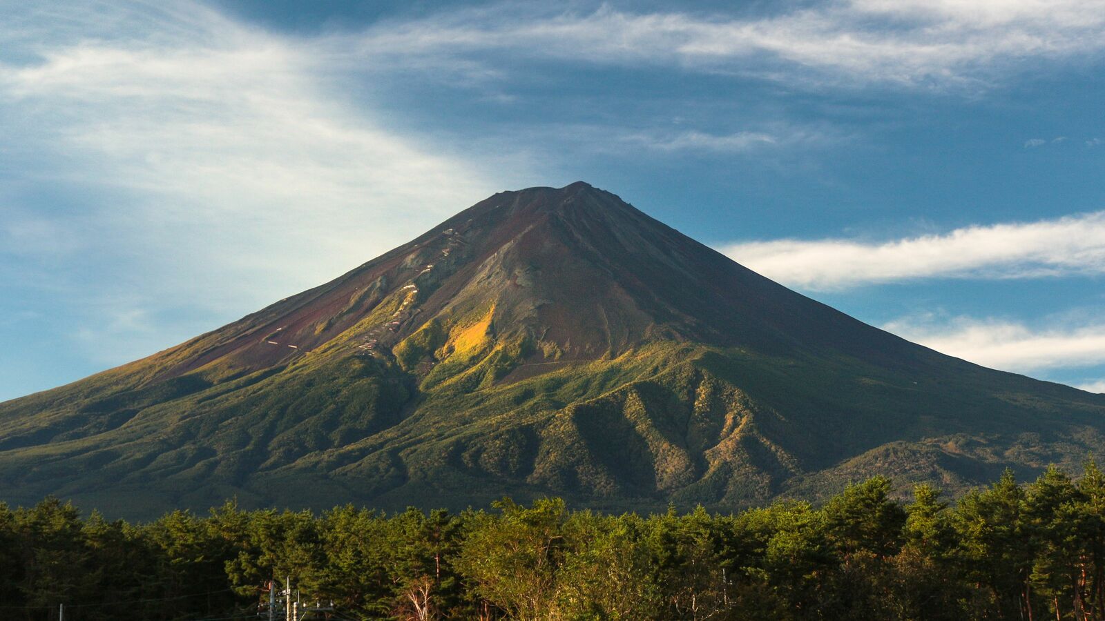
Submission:
<svg viewBox="0 0 1105 621">
<path fill-rule="evenodd" d="M 388 317 L 400 303 L 381 304 Z M 898 493 L 932 482 L 960 494 L 1007 467 L 1032 476 L 1105 449 L 1101 398 L 966 362 L 949 372 L 935 352 L 886 368 L 653 341 L 550 365 L 534 337 L 493 335 L 491 316 L 428 323 L 394 358 L 354 355 L 343 335 L 262 371 L 214 362 L 83 388 L 34 417 L 20 415 L 33 401 L 15 401 L 0 413 L 0 495 L 56 493 L 129 516 L 290 493 L 305 507 L 555 494 L 610 509 L 735 508 L 874 474 L 897 476 Z M 538 372 L 520 372 L 534 359 Z"/>
</svg>

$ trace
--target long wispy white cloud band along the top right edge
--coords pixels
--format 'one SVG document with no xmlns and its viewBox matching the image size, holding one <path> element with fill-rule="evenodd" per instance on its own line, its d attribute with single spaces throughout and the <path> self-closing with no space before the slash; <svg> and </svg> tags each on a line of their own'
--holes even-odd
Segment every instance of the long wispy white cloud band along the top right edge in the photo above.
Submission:
<svg viewBox="0 0 1105 621">
<path fill-rule="evenodd" d="M 749 18 L 690 13 L 465 10 L 366 33 L 367 55 L 414 65 L 456 63 L 467 52 L 617 64 L 674 64 L 793 81 L 912 85 L 986 80 L 1025 59 L 1105 50 L 1105 0 L 841 0 Z M 787 71 L 781 71 L 780 67 Z"/>
</svg>

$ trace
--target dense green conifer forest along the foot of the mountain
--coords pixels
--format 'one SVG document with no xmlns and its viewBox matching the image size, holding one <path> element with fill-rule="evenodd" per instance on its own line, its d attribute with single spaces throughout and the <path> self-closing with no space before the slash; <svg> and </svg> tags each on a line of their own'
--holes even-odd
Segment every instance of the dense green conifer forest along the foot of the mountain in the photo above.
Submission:
<svg viewBox="0 0 1105 621">
<path fill-rule="evenodd" d="M 267 619 L 270 583 L 287 578 L 306 619 L 1105 619 L 1095 464 L 1028 485 L 1007 472 L 955 503 L 891 491 L 875 477 L 820 507 L 734 515 L 228 503 L 143 524 L 46 498 L 0 505 L 0 614 Z"/>
</svg>

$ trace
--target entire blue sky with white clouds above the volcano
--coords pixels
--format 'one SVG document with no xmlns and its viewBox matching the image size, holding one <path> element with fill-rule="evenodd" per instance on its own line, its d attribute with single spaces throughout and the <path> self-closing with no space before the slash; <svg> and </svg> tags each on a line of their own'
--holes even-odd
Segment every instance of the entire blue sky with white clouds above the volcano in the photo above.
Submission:
<svg viewBox="0 0 1105 621">
<path fill-rule="evenodd" d="M 1105 391 L 1105 0 L 0 0 L 0 399 L 582 179 Z"/>
</svg>

